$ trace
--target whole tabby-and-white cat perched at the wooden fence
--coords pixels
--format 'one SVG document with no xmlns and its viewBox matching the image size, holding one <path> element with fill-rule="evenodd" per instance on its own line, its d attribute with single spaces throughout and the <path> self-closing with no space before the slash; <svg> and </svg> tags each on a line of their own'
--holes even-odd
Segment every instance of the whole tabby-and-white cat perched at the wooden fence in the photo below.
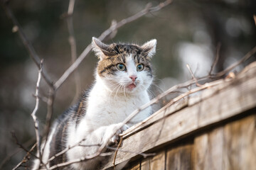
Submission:
<svg viewBox="0 0 256 170">
<path fill-rule="evenodd" d="M 67 147 L 78 145 L 79 142 L 80 146 L 73 147 L 48 162 L 48 168 L 95 154 L 98 145 L 117 142 L 121 132 L 152 113 L 151 107 L 146 108 L 126 125 L 120 124 L 132 111 L 150 100 L 147 92 L 153 81 L 150 60 L 156 52 L 156 40 L 150 40 L 142 46 L 122 43 L 106 45 L 97 38 L 92 38 L 92 51 L 99 59 L 95 83 L 89 91 L 82 94 L 78 104 L 55 120 L 47 142 L 42 144 L 46 145 L 42 162 L 46 164 L 50 157 Z M 111 137 L 114 128 L 120 125 L 122 128 Z M 105 157 L 95 157 L 60 169 L 99 169 L 103 159 Z M 33 169 L 39 167 L 37 159 Z M 41 166 L 41 169 L 46 167 Z"/>
</svg>

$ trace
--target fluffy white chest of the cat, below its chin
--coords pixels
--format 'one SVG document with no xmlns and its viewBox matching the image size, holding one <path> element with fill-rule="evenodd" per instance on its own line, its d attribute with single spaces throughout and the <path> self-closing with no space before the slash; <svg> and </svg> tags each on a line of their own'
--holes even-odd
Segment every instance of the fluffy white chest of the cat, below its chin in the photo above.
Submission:
<svg viewBox="0 0 256 170">
<path fill-rule="evenodd" d="M 135 109 L 149 101 L 146 91 L 142 91 L 137 95 L 120 95 L 112 94 L 110 91 L 99 89 L 99 85 L 95 84 L 90 93 L 87 113 L 85 118 L 94 123 L 95 126 L 111 125 L 122 122 Z M 149 116 L 151 108 L 139 113 L 133 118 L 129 125 L 134 125 Z"/>
</svg>

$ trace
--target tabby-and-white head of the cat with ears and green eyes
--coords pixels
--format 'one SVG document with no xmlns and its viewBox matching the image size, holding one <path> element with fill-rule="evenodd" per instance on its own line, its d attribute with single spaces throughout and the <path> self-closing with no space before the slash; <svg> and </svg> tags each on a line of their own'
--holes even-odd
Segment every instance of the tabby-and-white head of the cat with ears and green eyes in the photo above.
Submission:
<svg viewBox="0 0 256 170">
<path fill-rule="evenodd" d="M 156 52 L 156 40 L 144 45 L 106 45 L 92 38 L 92 50 L 99 58 L 97 79 L 116 93 L 137 93 L 149 88 L 153 81 L 150 60 Z"/>
</svg>

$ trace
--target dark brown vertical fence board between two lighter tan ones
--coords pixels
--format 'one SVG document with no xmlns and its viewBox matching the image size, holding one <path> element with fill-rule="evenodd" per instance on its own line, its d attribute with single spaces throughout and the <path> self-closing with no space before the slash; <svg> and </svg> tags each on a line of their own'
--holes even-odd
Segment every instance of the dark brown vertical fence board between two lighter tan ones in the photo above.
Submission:
<svg viewBox="0 0 256 170">
<path fill-rule="evenodd" d="M 166 170 L 193 169 L 193 145 L 183 145 L 171 148 L 166 154 Z"/>
</svg>

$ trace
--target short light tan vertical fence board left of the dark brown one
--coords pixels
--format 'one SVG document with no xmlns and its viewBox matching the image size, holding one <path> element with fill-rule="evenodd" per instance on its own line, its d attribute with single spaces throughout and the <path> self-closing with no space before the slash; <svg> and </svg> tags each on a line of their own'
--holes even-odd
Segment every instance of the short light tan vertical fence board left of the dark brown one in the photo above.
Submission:
<svg viewBox="0 0 256 170">
<path fill-rule="evenodd" d="M 154 157 L 142 161 L 141 170 L 164 170 L 165 169 L 165 152 L 159 152 Z"/>
</svg>

